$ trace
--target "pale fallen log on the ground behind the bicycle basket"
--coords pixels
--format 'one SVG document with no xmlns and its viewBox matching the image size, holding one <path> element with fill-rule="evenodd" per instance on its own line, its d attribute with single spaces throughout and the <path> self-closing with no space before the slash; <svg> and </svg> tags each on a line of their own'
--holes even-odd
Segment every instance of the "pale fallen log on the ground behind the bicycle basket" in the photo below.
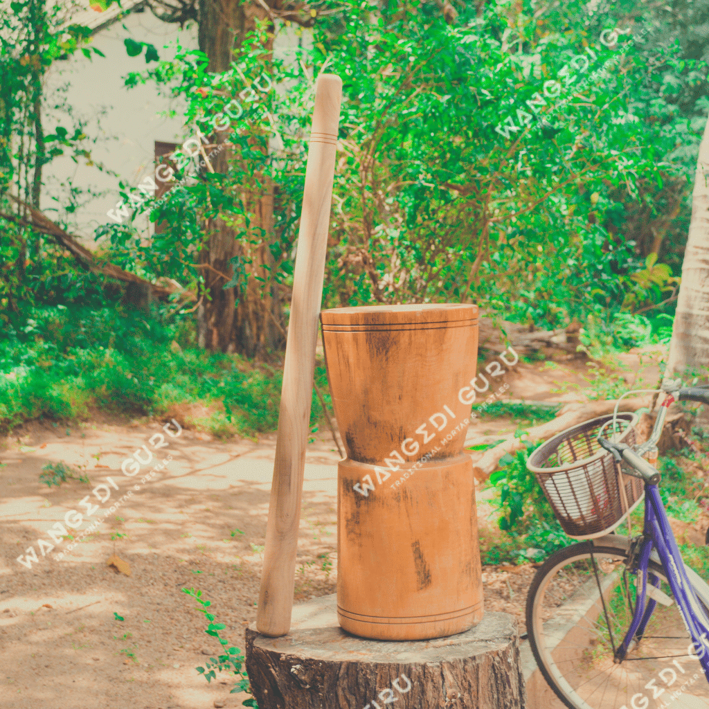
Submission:
<svg viewBox="0 0 709 709">
<path fill-rule="evenodd" d="M 583 423 L 596 416 L 603 416 L 608 413 L 613 413 L 616 400 L 612 401 L 589 401 L 588 403 L 569 403 L 559 411 L 557 418 L 543 423 L 540 426 L 535 426 L 527 430 L 527 440 L 547 440 L 557 433 L 561 433 L 577 423 Z M 625 398 L 620 402 L 618 413 L 621 411 L 636 411 L 642 406 L 647 406 L 649 403 L 647 398 Z M 473 463 L 473 474 L 476 480 L 483 482 L 498 469 L 500 459 L 515 450 L 520 450 L 524 443 L 515 438 L 514 434 L 504 436 L 505 440 L 498 443 L 494 448 L 486 451 L 483 457 L 478 462 Z"/>
</svg>

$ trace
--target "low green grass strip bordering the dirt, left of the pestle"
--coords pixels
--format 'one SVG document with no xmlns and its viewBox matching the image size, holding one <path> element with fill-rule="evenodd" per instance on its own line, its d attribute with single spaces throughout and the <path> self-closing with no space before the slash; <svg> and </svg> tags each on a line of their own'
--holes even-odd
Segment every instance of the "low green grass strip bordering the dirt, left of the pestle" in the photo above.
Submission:
<svg viewBox="0 0 709 709">
<path fill-rule="evenodd" d="M 36 418 L 86 420 L 96 409 L 176 418 L 218 437 L 277 428 L 282 372 L 189 346 L 184 323 L 118 308 L 32 315 L 23 332 L 1 336 L 0 431 Z M 327 391 L 325 367 L 316 381 Z M 322 414 L 313 394 L 311 423 Z"/>
</svg>

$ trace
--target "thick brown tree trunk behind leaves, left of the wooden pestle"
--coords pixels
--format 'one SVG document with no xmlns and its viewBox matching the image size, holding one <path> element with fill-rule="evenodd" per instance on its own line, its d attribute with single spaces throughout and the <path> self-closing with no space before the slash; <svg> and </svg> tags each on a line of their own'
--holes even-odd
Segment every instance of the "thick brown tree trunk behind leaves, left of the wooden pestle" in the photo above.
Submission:
<svg viewBox="0 0 709 709">
<path fill-rule="evenodd" d="M 199 48 L 209 57 L 208 70 L 228 69 L 235 47 L 248 32 L 255 30 L 257 19 L 265 18 L 266 10 L 257 3 L 201 0 Z M 215 135 L 217 143 L 226 138 L 225 133 Z M 227 174 L 228 152 L 218 153 L 213 162 L 216 172 Z M 199 342 L 208 350 L 236 351 L 255 357 L 284 341 L 284 330 L 279 324 L 280 301 L 272 287 L 273 257 L 268 247 L 273 238 L 273 185 L 267 182 L 266 194 L 251 196 L 246 191 L 244 203 L 253 215 L 250 231 L 263 235 L 259 245 L 246 246 L 238 242 L 235 228 L 223 219 L 215 218 L 207 223 L 208 237 L 199 259 L 205 281 L 205 297 L 198 311 Z M 242 258 L 246 283 L 225 290 L 226 279 L 234 275 L 230 259 L 235 256 Z"/>
</svg>

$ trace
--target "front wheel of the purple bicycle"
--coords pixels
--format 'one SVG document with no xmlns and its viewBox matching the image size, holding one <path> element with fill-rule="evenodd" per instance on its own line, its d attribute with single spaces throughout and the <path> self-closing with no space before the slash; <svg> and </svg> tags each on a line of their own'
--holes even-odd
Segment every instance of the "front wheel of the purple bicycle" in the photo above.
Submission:
<svg viewBox="0 0 709 709">
<path fill-rule="evenodd" d="M 530 647 L 570 709 L 709 709 L 709 685 L 666 575 L 654 562 L 648 575 L 663 602 L 627 658 L 615 663 L 637 598 L 627 552 L 581 542 L 537 571 L 527 596 Z"/>
</svg>

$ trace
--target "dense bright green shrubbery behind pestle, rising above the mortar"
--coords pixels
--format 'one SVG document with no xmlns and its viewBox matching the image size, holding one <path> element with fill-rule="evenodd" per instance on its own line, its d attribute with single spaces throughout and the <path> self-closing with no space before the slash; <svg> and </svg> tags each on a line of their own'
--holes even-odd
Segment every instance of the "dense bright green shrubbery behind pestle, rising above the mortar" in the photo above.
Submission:
<svg viewBox="0 0 709 709">
<path fill-rule="evenodd" d="M 207 238 L 204 220 L 220 217 L 240 250 L 225 288 L 240 298 L 248 284 L 261 295 L 290 286 L 311 74 L 327 65 L 344 99 L 325 303 L 473 299 L 539 326 L 577 318 L 591 349 L 607 337 L 629 346 L 640 333 L 619 318 L 654 308 L 676 278 L 625 233 L 624 218 L 637 206 L 659 219 L 670 199 L 662 185 L 681 193 L 693 175 L 700 127 L 685 114 L 697 117 L 706 67 L 681 60 L 679 45 L 656 46 L 642 23 L 613 47 L 601 42 L 625 9 L 589 14 L 572 0 L 540 17 L 526 2 L 498 1 L 449 24 L 432 4 L 391 12 L 351 2 L 318 18 L 312 47 L 286 59 L 264 49 L 262 29 L 220 74 L 201 52 L 180 50 L 127 84 L 184 97 L 191 135 L 227 133 L 228 173 L 178 152 L 180 184 L 160 201 L 121 192 L 130 213 L 169 228 L 151 242 L 127 223 L 97 235 L 123 267 L 196 286 L 191 254 Z M 273 235 L 256 217 L 269 181 Z M 270 265 L 257 256 L 265 246 Z"/>
</svg>

